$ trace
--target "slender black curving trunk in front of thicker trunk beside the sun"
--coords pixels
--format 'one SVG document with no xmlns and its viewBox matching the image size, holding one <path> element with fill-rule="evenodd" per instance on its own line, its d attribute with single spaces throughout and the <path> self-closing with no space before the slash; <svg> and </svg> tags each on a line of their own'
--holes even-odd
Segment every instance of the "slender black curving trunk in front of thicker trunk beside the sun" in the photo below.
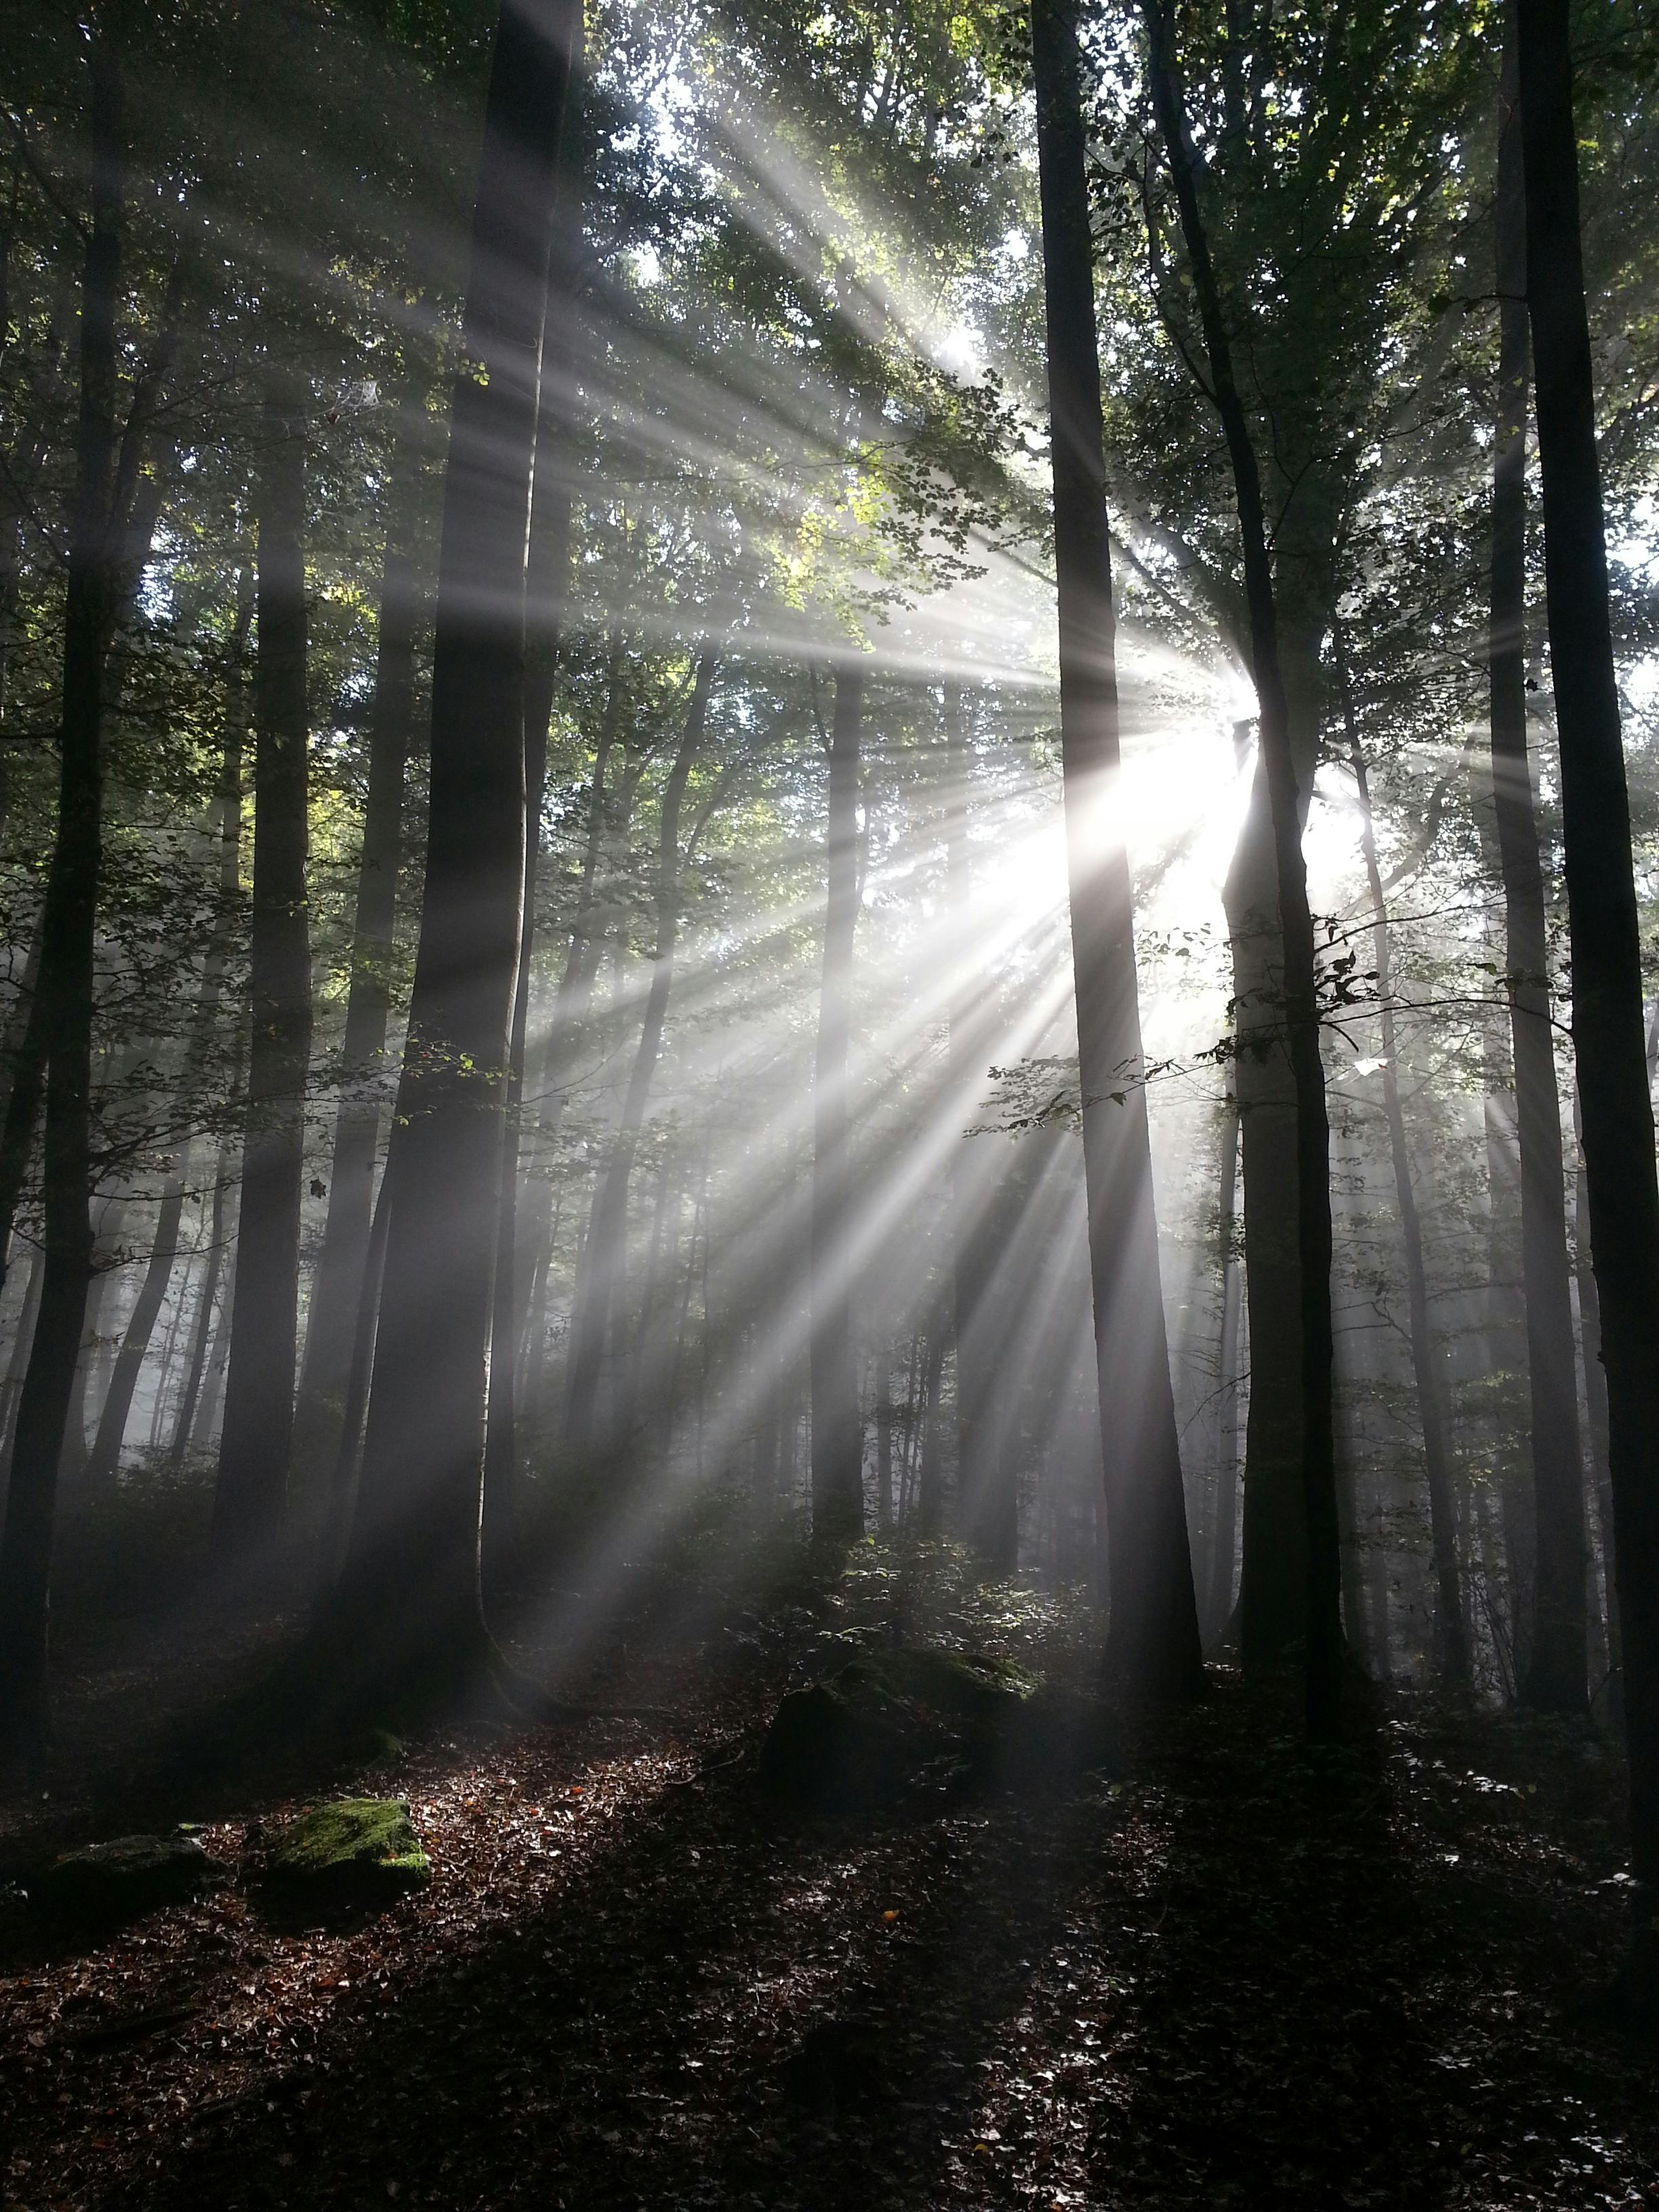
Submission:
<svg viewBox="0 0 1659 2212">
<path fill-rule="evenodd" d="M 1232 338 L 1221 307 L 1210 241 L 1199 210 L 1197 157 L 1161 0 L 1148 0 L 1152 106 L 1164 135 L 1181 215 L 1192 290 L 1210 356 L 1217 414 L 1228 442 L 1239 502 L 1250 661 L 1261 710 L 1261 763 L 1274 830 L 1274 876 L 1285 958 L 1285 1033 L 1296 1082 L 1296 1261 L 1303 1334 L 1303 1509 L 1307 1522 L 1307 1732 L 1325 1741 L 1340 1725 L 1343 1562 L 1336 1515 L 1336 1436 L 1332 1407 L 1332 1181 L 1325 1062 L 1318 1035 L 1318 953 L 1307 905 L 1301 799 L 1290 743 L 1290 708 L 1279 657 L 1279 604 L 1256 451 L 1232 372 Z M 1254 1340 L 1254 1332 L 1252 1332 Z"/>
</svg>

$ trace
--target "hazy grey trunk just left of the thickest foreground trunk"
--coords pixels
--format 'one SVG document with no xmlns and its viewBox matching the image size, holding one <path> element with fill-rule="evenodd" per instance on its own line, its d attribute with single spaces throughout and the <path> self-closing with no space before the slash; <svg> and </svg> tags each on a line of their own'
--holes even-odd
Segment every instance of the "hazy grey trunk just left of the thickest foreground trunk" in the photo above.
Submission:
<svg viewBox="0 0 1659 2212">
<path fill-rule="evenodd" d="M 352 1365 L 352 1325 L 363 1287 L 363 1261 L 369 1250 L 385 1040 L 392 1024 L 403 783 L 414 741 L 416 630 L 420 626 L 414 540 L 425 438 L 407 422 L 407 416 L 425 418 L 425 380 L 409 378 L 400 407 L 405 420 L 392 451 L 392 513 L 387 515 L 385 568 L 380 573 L 374 721 L 369 723 L 369 787 L 363 805 L 352 980 L 341 1044 L 343 1088 L 334 1119 L 323 1250 L 312 1281 L 305 1360 L 294 1409 L 294 1475 L 314 1517 L 325 1513 L 327 1469 L 338 1438 Z"/>
</svg>

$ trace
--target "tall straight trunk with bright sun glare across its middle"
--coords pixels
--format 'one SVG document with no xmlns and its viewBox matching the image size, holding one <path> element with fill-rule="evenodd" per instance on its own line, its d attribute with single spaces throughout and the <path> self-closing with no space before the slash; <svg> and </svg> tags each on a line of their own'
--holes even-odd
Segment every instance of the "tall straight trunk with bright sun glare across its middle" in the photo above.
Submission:
<svg viewBox="0 0 1659 2212">
<path fill-rule="evenodd" d="M 1077 27 L 1033 0 L 1048 332 L 1060 752 L 1102 1460 L 1110 1522 L 1108 1659 L 1139 1690 L 1203 1681 L 1181 1447 L 1159 1281 L 1135 978 L 1135 896 L 1119 785 L 1106 458 Z"/>
</svg>

